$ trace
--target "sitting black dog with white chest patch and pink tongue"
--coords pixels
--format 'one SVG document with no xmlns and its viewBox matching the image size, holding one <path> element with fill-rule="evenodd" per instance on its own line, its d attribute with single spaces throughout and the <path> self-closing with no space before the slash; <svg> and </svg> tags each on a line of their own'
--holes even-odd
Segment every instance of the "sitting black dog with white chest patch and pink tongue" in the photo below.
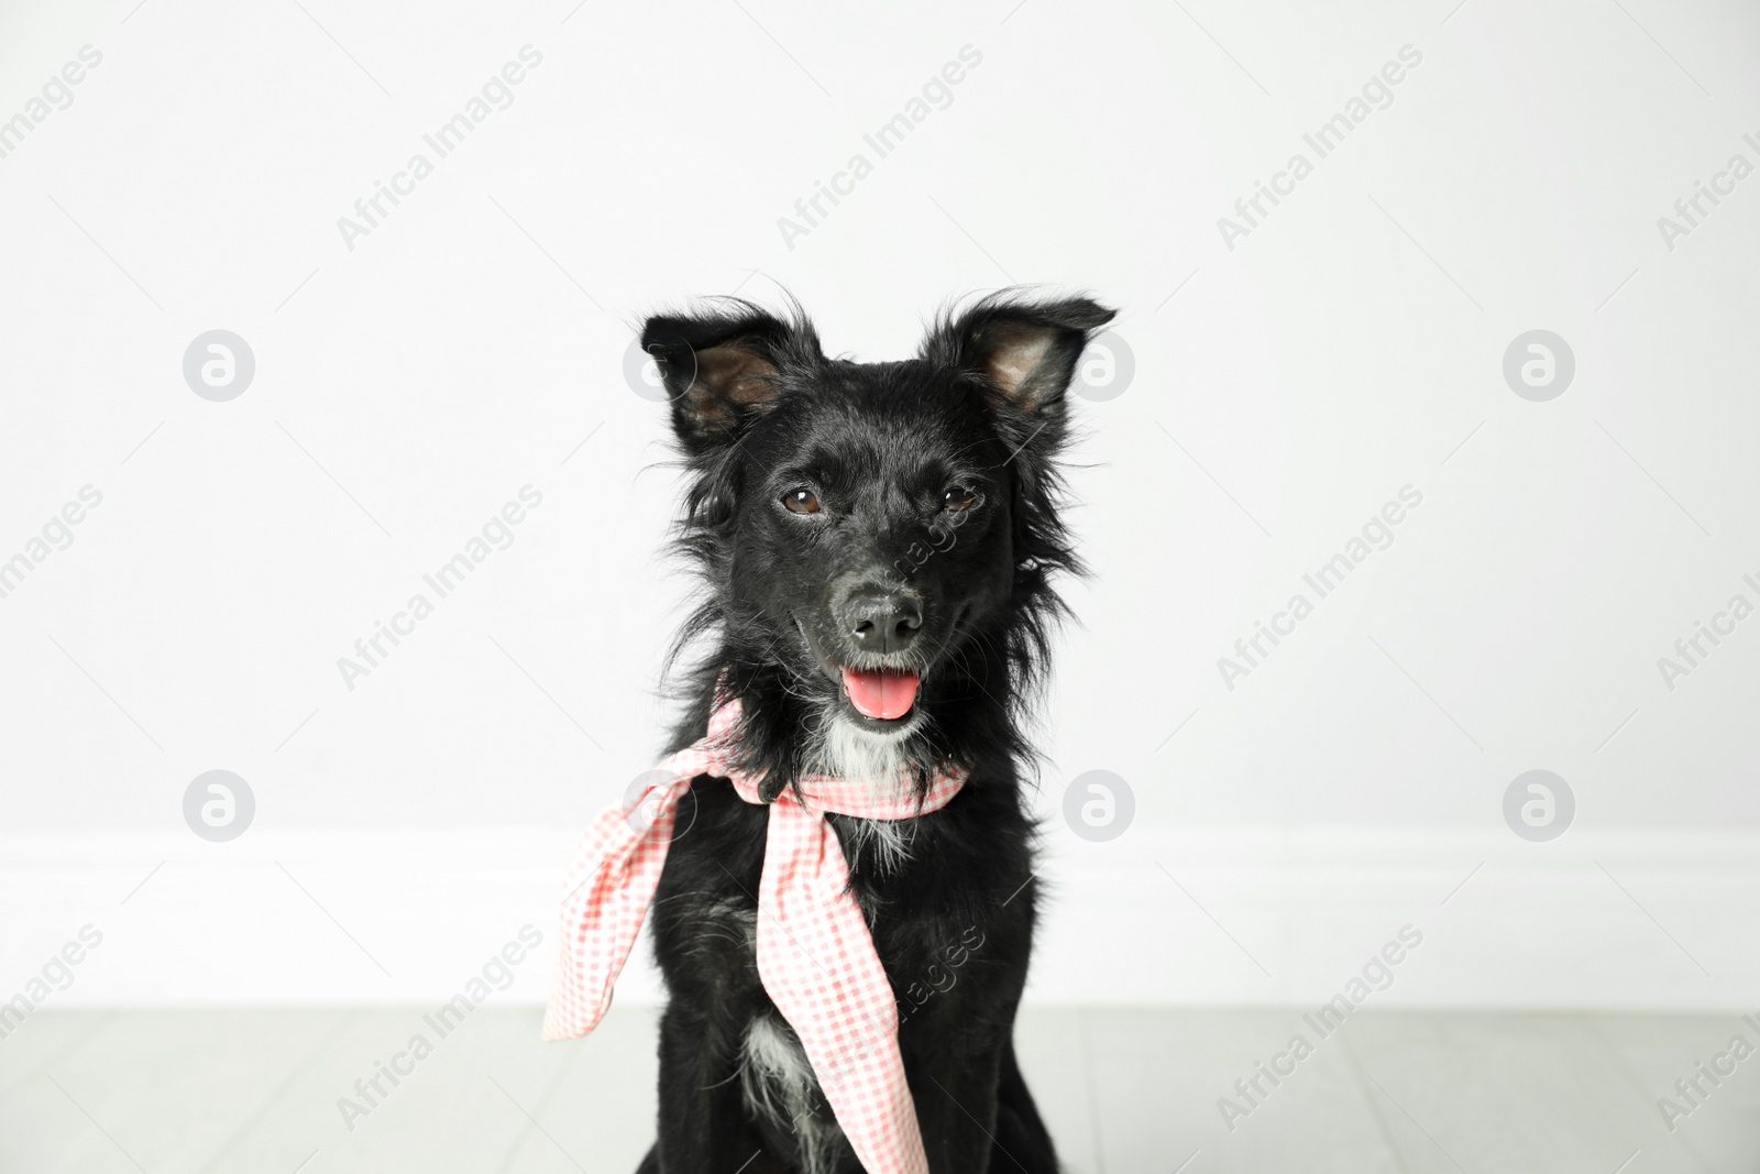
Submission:
<svg viewBox="0 0 1760 1174">
<path fill-rule="evenodd" d="M 811 324 L 744 301 L 655 317 L 642 334 L 692 473 L 683 549 L 708 584 L 674 657 L 688 674 L 672 748 L 722 688 L 773 799 L 804 773 L 928 787 L 913 820 L 832 815 L 899 1009 L 899 1047 L 936 1174 L 1054 1174 L 1014 1058 L 1033 938 L 1033 824 L 1019 722 L 1079 572 L 1058 519 L 1065 391 L 1112 312 L 1005 292 L 943 315 L 915 359 L 850 363 Z M 753 958 L 767 811 L 699 776 L 653 903 L 671 1002 L 660 1141 L 642 1170 L 859 1170 Z"/>
</svg>

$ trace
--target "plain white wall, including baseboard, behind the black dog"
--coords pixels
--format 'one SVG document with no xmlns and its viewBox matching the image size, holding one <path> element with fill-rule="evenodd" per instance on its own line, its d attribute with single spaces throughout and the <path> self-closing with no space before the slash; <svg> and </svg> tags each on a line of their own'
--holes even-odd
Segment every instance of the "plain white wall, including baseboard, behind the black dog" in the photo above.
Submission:
<svg viewBox="0 0 1760 1174">
<path fill-rule="evenodd" d="M 1121 306 L 1135 368 L 1081 408 L 1096 577 L 1042 730 L 1065 903 L 1035 991 L 1308 998 L 1422 921 L 1412 861 L 1447 892 L 1480 859 L 1447 977 L 1390 996 L 1725 1005 L 1760 977 L 1730 945 L 1760 620 L 1674 688 L 1658 671 L 1732 595 L 1760 604 L 1760 178 L 1658 229 L 1732 155 L 1760 165 L 1749 7 L 303 2 L 0 11 L 0 120 L 102 55 L 0 157 L 0 560 L 102 495 L 0 598 L 0 998 L 106 917 L 114 973 L 69 998 L 456 986 L 658 745 L 678 484 L 630 322 L 783 285 L 831 350 L 896 357 L 945 297 L 1016 280 Z M 436 160 L 422 136 L 528 44 L 512 104 Z M 964 46 L 952 102 L 876 158 L 862 136 Z M 1318 158 L 1302 136 L 1403 46 L 1390 106 Z M 348 248 L 338 218 L 415 151 L 433 174 Z M 1295 151 L 1313 174 L 1230 248 L 1218 218 Z M 873 174 L 785 239 L 852 153 Z M 216 327 L 255 356 L 225 403 L 181 371 Z M 1531 329 L 1575 356 L 1544 403 L 1501 370 Z M 514 544 L 350 690 L 338 657 L 523 486 Z M 1218 658 L 1403 486 L 1392 544 L 1228 688 Z M 1501 813 L 1536 767 L 1577 803 L 1551 843 Z M 208 769 L 255 794 L 231 843 L 183 824 Z M 1089 769 L 1135 796 L 1105 845 L 1060 815 Z M 408 877 L 451 892 L 479 848 L 447 940 Z M 1214 921 L 1177 891 L 1139 908 L 1156 859 Z M 350 887 L 373 861 L 419 868 Z M 1316 921 L 1339 868 L 1380 896 Z M 329 919 L 264 963 L 239 926 L 317 915 L 299 871 L 401 954 L 389 986 Z"/>
</svg>

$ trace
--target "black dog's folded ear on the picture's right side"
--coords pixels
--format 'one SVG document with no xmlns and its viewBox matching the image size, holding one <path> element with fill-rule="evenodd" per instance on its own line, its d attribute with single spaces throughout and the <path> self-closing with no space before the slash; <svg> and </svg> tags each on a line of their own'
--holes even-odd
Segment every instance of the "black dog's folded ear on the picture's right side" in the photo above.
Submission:
<svg viewBox="0 0 1760 1174">
<path fill-rule="evenodd" d="M 1042 301 L 1005 290 L 943 320 L 924 357 L 975 371 L 1000 401 L 1040 414 L 1063 401 L 1088 340 L 1112 319 L 1088 297 Z"/>
</svg>

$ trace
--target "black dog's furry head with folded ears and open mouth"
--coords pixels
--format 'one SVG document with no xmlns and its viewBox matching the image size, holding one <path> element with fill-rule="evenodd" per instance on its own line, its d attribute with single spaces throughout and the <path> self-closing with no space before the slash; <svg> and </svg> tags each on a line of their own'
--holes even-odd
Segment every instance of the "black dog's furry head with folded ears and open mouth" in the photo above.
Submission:
<svg viewBox="0 0 1760 1174">
<path fill-rule="evenodd" d="M 998 294 L 899 363 L 829 359 L 803 315 L 741 301 L 648 320 L 697 473 L 685 542 L 711 584 L 699 620 L 722 628 L 715 669 L 804 718 L 817 766 L 922 760 L 913 741 L 945 753 L 970 723 L 954 708 L 1007 709 L 1056 609 L 1047 574 L 1075 567 L 1052 458 L 1111 319 Z"/>
</svg>

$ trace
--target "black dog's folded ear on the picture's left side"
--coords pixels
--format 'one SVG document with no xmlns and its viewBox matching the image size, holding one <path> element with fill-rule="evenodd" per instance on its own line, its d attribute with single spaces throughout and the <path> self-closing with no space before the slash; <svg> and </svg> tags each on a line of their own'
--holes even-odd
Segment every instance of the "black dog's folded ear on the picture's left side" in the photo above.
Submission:
<svg viewBox="0 0 1760 1174">
<path fill-rule="evenodd" d="M 799 329 L 746 303 L 736 313 L 648 319 L 642 350 L 660 368 L 686 452 L 732 444 L 774 405 L 783 363 L 803 341 Z"/>
</svg>

